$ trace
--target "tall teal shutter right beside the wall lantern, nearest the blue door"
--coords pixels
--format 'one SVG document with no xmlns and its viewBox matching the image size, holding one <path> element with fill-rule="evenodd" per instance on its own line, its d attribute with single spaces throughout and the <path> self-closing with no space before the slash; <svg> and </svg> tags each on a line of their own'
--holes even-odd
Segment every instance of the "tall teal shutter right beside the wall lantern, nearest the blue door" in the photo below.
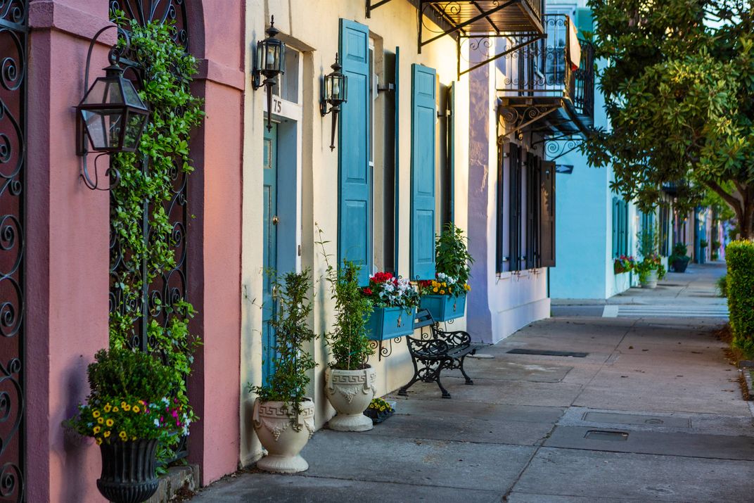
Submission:
<svg viewBox="0 0 754 503">
<path fill-rule="evenodd" d="M 372 176 L 369 173 L 369 28 L 340 20 L 342 72 L 348 102 L 340 112 L 338 142 L 338 262 L 361 265 L 359 284 L 372 274 Z"/>
</svg>

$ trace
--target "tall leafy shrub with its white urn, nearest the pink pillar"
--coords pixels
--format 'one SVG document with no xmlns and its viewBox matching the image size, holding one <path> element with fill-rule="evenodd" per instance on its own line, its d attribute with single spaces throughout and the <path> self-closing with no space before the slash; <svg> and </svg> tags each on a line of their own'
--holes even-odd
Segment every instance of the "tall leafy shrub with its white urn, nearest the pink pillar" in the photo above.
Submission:
<svg viewBox="0 0 754 503">
<path fill-rule="evenodd" d="M 271 321 L 277 341 L 274 373 L 261 386 L 247 385 L 257 395 L 253 427 L 268 453 L 256 467 L 264 471 L 296 473 L 309 468 L 299 453 L 314 434 L 314 401 L 305 396 L 309 371 L 317 365 L 304 349 L 306 342 L 317 338 L 308 325 L 310 275 L 305 269 L 285 274 L 282 283 L 272 280 L 279 292 Z"/>
</svg>

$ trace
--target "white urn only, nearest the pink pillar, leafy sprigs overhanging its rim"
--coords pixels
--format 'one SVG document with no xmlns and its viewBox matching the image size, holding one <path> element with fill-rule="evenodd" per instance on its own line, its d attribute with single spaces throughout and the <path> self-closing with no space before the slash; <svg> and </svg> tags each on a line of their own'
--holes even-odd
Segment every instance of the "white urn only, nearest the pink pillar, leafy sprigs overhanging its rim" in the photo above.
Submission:
<svg viewBox="0 0 754 503">
<path fill-rule="evenodd" d="M 309 464 L 299 452 L 314 434 L 314 401 L 301 403 L 301 413 L 291 424 L 285 402 L 254 401 L 254 431 L 268 454 L 256 462 L 256 468 L 280 474 L 305 471 Z"/>
</svg>

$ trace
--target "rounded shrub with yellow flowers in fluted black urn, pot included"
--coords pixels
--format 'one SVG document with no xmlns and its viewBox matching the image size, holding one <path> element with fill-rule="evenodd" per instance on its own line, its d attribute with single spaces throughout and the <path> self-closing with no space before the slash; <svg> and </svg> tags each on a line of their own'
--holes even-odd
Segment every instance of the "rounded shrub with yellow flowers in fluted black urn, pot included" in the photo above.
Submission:
<svg viewBox="0 0 754 503">
<path fill-rule="evenodd" d="M 146 501 L 158 487 L 158 444 L 188 435 L 195 417 L 185 398 L 170 397 L 173 370 L 151 354 L 112 348 L 94 358 L 87 402 L 67 425 L 100 446 L 97 489 L 108 501 Z"/>
</svg>

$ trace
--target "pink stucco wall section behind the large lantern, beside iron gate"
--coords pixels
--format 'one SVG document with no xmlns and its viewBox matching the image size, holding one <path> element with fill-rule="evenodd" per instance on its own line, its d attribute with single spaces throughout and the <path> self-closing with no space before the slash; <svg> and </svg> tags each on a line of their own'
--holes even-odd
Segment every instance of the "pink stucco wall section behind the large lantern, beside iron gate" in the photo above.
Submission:
<svg viewBox="0 0 754 503">
<path fill-rule="evenodd" d="M 108 343 L 109 198 L 78 179 L 72 108 L 89 38 L 106 23 L 107 2 L 38 0 L 29 11 L 27 501 L 103 501 L 93 484 L 98 449 L 60 423 L 86 396 L 87 363 Z"/>
</svg>

